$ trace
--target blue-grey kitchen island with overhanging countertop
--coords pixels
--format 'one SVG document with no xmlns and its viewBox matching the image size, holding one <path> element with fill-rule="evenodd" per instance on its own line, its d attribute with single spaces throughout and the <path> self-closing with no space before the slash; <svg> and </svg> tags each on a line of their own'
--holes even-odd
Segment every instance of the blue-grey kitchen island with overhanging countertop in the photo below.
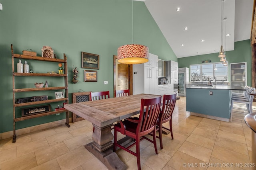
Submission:
<svg viewBox="0 0 256 170">
<path fill-rule="evenodd" d="M 229 122 L 231 90 L 244 88 L 225 85 L 186 87 L 186 111 L 190 111 L 190 115 Z"/>
</svg>

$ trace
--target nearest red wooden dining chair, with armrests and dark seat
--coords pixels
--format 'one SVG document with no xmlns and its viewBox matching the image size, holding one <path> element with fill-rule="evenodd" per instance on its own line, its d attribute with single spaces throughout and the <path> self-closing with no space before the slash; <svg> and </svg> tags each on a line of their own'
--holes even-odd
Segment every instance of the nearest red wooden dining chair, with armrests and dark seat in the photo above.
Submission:
<svg viewBox="0 0 256 170">
<path fill-rule="evenodd" d="M 139 118 L 128 118 L 114 125 L 114 152 L 116 151 L 116 147 L 120 147 L 120 149 L 136 156 L 138 170 L 140 170 L 140 141 L 142 139 L 147 139 L 151 143 L 154 143 L 155 152 L 158 154 L 156 147 L 156 121 L 160 113 L 161 98 L 162 96 L 152 99 L 141 99 Z M 117 132 L 132 137 L 135 139 L 135 142 L 128 147 L 118 144 Z M 145 137 L 149 133 L 153 133 L 153 141 Z M 136 145 L 136 152 L 130 150 L 134 145 Z"/>
</svg>

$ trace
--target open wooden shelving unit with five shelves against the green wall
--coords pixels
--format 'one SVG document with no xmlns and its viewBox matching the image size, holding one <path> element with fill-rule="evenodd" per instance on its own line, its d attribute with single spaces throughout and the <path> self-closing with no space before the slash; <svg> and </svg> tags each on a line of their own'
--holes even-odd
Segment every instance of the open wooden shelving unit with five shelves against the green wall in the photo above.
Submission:
<svg viewBox="0 0 256 170">
<path fill-rule="evenodd" d="M 70 127 L 68 123 L 68 110 L 63 109 L 63 110 L 58 110 L 58 111 L 49 111 L 45 113 L 39 113 L 39 114 L 34 114 L 34 115 L 26 115 L 23 117 L 16 117 L 15 111 L 16 107 L 23 107 L 23 106 L 33 106 L 33 105 L 40 105 L 40 104 L 46 104 L 46 103 L 54 103 L 54 102 L 66 102 L 68 103 L 68 64 L 67 64 L 67 57 L 64 54 L 64 59 L 50 59 L 50 58 L 44 58 L 44 57 L 38 57 L 38 56 L 28 56 L 28 55 L 21 55 L 21 54 L 14 54 L 12 45 L 11 45 L 11 50 L 12 50 L 12 92 L 13 92 L 13 138 L 12 138 L 12 143 L 16 142 L 16 129 L 15 129 L 15 123 L 18 121 L 24 121 L 27 119 L 32 119 L 36 117 L 42 117 L 42 116 L 47 116 L 47 115 L 54 115 L 57 113 L 66 113 L 66 125 Z M 14 72 L 14 58 L 18 59 L 28 59 L 28 60 L 37 60 L 37 61 L 48 61 L 48 62 L 56 62 L 56 63 L 63 63 L 63 67 L 65 70 L 65 74 L 49 74 L 49 73 L 18 73 Z M 48 88 L 15 88 L 15 77 L 16 76 L 48 76 L 48 77 L 63 77 L 64 78 L 64 86 L 62 87 L 48 87 Z M 26 103 L 16 103 L 15 100 L 15 94 L 16 93 L 22 93 L 22 92 L 35 92 L 35 91 L 46 91 L 46 90 L 65 90 L 64 92 L 64 98 L 61 99 L 51 99 L 51 100 L 42 100 L 42 101 L 37 101 L 37 102 L 26 102 Z"/>
</svg>

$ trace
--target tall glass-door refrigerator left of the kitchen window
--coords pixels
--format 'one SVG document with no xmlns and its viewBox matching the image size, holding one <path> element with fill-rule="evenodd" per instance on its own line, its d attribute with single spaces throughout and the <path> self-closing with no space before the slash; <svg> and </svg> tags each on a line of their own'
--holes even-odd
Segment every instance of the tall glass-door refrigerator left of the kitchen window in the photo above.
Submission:
<svg viewBox="0 0 256 170">
<path fill-rule="evenodd" d="M 187 67 L 179 68 L 179 96 L 186 96 L 186 84 L 189 83 L 189 69 Z"/>
</svg>

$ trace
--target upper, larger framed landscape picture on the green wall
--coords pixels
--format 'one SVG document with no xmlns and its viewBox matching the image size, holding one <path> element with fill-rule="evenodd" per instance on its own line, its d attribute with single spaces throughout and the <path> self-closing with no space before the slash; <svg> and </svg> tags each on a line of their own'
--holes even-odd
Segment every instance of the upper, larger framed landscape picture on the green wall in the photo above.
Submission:
<svg viewBox="0 0 256 170">
<path fill-rule="evenodd" d="M 82 52 L 82 68 L 99 69 L 99 55 Z"/>
</svg>

